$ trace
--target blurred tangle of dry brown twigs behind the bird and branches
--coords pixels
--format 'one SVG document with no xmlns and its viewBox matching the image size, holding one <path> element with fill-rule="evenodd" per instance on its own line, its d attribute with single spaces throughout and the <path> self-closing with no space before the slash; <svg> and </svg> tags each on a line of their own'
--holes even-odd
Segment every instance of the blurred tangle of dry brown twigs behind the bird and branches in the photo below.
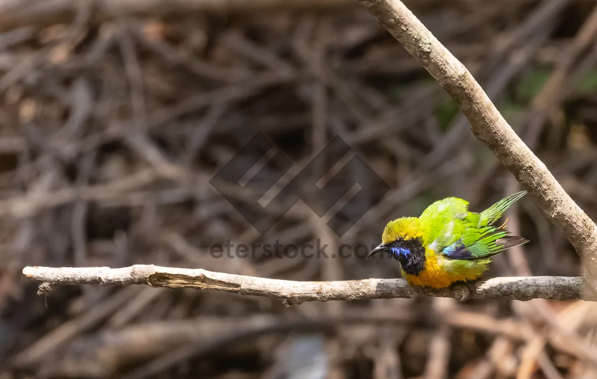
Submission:
<svg viewBox="0 0 597 379">
<path fill-rule="evenodd" d="M 406 4 L 595 220 L 595 1 Z M 260 249 L 214 258 L 209 249 L 229 239 L 371 246 L 387 220 L 436 199 L 460 196 L 480 211 L 519 187 L 357 2 L 7 1 L 0 20 L 1 379 L 597 377 L 590 303 L 285 307 L 141 286 L 36 296 L 23 266 L 392 278 L 399 269 L 388 261 L 264 258 Z M 341 237 L 303 202 L 262 236 L 236 209 L 267 222 L 284 207 L 255 207 L 250 188 L 223 186 L 231 205 L 209 183 L 258 131 L 297 165 L 340 135 L 391 189 L 368 186 L 355 207 L 370 211 Z M 263 183 L 281 170 L 266 164 Z M 337 190 L 362 175 L 350 171 Z M 489 276 L 580 274 L 530 198 L 509 212 L 509 229 L 531 242 L 496 257 Z M 369 322 L 377 312 L 396 320 Z M 344 323 L 349 314 L 362 322 Z M 284 324 L 289 316 L 302 321 Z M 335 321 L 315 321 L 324 316 Z"/>
</svg>

